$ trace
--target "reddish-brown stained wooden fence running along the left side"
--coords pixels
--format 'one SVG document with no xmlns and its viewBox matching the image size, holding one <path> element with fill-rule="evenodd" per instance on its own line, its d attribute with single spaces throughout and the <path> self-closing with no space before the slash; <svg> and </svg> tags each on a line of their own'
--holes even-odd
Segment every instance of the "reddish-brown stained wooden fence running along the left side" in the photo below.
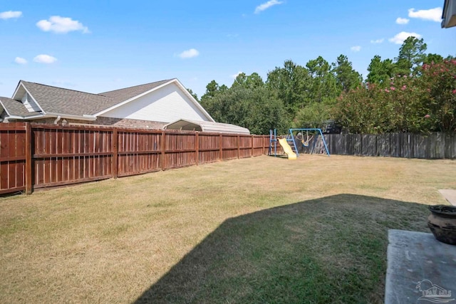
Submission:
<svg viewBox="0 0 456 304">
<path fill-rule="evenodd" d="M 266 135 L 0 124 L 0 194 L 266 154 Z"/>
</svg>

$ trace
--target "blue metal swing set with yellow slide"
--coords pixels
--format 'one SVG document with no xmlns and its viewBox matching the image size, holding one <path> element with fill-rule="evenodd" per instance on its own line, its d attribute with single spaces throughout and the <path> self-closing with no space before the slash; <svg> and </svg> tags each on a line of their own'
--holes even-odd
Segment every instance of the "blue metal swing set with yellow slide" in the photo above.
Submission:
<svg viewBox="0 0 456 304">
<path fill-rule="evenodd" d="M 277 156 L 277 143 L 282 147 L 288 159 L 296 159 L 299 157 L 299 152 L 305 149 L 309 150 L 309 154 L 313 154 L 318 140 L 323 141 L 324 150 L 329 156 L 328 145 L 326 145 L 325 137 L 321 129 L 304 128 L 304 129 L 289 129 L 288 135 L 284 138 L 279 138 L 276 135 L 276 130 L 269 130 L 269 155 Z"/>
</svg>

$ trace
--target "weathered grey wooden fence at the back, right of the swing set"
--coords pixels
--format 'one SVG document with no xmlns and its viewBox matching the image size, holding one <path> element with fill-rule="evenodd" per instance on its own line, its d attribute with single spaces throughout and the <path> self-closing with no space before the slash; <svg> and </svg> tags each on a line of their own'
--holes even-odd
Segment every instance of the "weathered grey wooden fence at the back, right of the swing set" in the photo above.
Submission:
<svg viewBox="0 0 456 304">
<path fill-rule="evenodd" d="M 455 134 L 390 133 L 381 135 L 328 134 L 323 136 L 330 154 L 424 159 L 456 158 Z M 321 151 L 324 151 L 323 142 L 318 140 L 312 152 Z M 303 152 L 309 153 L 311 151 L 306 149 Z"/>
</svg>

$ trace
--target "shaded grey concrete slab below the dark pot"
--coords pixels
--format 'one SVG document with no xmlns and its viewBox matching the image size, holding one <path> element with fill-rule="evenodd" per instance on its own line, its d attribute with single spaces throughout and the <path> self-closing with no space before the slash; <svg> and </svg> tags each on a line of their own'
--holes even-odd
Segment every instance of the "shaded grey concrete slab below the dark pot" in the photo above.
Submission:
<svg viewBox="0 0 456 304">
<path fill-rule="evenodd" d="M 456 304 L 456 246 L 432 234 L 390 229 L 385 303 Z"/>
</svg>

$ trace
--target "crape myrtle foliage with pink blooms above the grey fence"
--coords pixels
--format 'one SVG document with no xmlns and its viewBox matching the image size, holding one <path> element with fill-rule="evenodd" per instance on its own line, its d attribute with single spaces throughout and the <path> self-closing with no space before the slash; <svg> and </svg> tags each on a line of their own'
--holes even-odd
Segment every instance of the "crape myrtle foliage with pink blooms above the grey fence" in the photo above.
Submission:
<svg viewBox="0 0 456 304">
<path fill-rule="evenodd" d="M 396 75 L 386 88 L 369 83 L 342 93 L 333 111 L 353 133 L 455 132 L 456 60 L 425 63 L 419 75 Z"/>
</svg>

